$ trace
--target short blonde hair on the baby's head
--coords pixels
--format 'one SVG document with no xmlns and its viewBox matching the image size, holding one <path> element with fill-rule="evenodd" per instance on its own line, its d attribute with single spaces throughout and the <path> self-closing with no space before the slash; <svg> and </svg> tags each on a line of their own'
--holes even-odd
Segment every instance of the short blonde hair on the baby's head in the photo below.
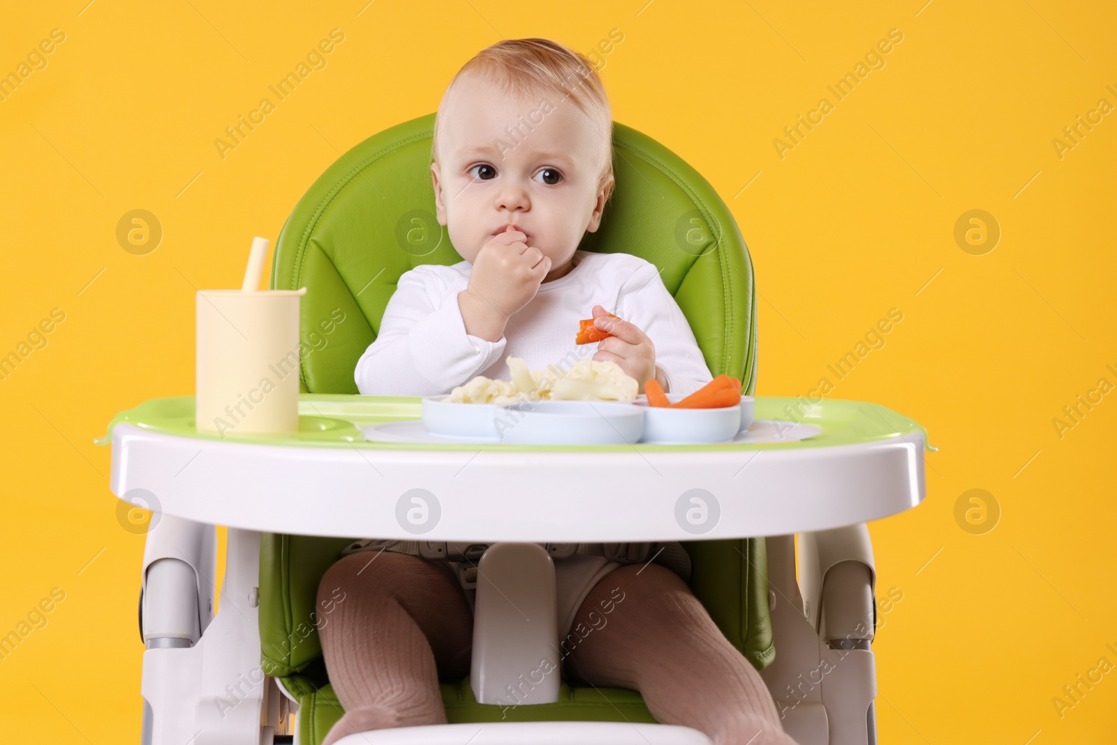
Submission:
<svg viewBox="0 0 1117 745">
<path fill-rule="evenodd" d="M 574 51 L 551 39 L 504 39 L 481 49 L 472 59 L 461 66 L 450 84 L 446 86 L 442 101 L 435 115 L 435 135 L 431 141 L 430 161 L 438 161 L 438 131 L 442 108 L 449 98 L 454 84 L 462 74 L 474 70 L 491 80 L 502 83 L 505 90 L 517 97 L 526 97 L 541 90 L 562 95 L 574 102 L 591 121 L 602 137 L 605 164 L 598 176 L 598 188 L 613 178 L 613 116 L 605 95 L 605 86 L 596 67 L 580 51 Z M 571 83 L 573 82 L 573 83 Z M 561 102 L 560 102 L 561 103 Z M 612 193 L 609 187 L 608 198 Z"/>
</svg>

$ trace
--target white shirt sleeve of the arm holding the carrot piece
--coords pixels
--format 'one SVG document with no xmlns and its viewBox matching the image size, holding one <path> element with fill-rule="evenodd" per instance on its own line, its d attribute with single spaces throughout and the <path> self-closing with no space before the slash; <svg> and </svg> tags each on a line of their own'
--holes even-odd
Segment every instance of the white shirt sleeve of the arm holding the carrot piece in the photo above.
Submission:
<svg viewBox="0 0 1117 745">
<path fill-rule="evenodd" d="M 690 394 L 714 380 L 698 340 L 653 264 L 645 264 L 621 288 L 622 318 L 636 324 L 656 347 L 669 393 Z"/>
</svg>

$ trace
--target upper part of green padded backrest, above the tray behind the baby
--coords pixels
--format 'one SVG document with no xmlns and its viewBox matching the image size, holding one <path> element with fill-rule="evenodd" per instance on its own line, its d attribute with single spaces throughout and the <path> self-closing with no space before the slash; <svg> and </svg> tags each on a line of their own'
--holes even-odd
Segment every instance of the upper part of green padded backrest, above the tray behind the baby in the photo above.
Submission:
<svg viewBox="0 0 1117 745">
<path fill-rule="evenodd" d="M 461 261 L 435 219 L 433 114 L 357 144 L 296 204 L 276 243 L 273 289 L 302 298 L 303 391 L 357 393 L 356 362 L 376 338 L 395 284 L 423 264 Z M 710 371 L 755 388 L 756 298 L 748 249 L 713 187 L 655 140 L 614 124 L 617 188 L 579 248 L 661 269 Z M 586 308 L 589 314 L 590 308 Z"/>
</svg>

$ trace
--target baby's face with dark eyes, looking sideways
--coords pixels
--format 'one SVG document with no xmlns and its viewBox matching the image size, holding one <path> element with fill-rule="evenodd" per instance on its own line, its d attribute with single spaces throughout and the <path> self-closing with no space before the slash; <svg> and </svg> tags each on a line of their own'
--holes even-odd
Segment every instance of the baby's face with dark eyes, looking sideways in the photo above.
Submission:
<svg viewBox="0 0 1117 745">
<path fill-rule="evenodd" d="M 605 134 L 570 99 L 541 93 L 517 101 L 477 75 L 458 79 L 439 118 L 435 202 L 461 257 L 474 262 L 514 225 L 551 257 L 544 281 L 570 271 L 582 236 L 601 223 Z"/>
</svg>

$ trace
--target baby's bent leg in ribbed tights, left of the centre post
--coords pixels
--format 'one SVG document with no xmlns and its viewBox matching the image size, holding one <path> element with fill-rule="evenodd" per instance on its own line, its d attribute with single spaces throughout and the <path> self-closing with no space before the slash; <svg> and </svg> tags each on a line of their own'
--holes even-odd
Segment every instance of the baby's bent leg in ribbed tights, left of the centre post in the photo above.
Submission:
<svg viewBox="0 0 1117 745">
<path fill-rule="evenodd" d="M 345 707 L 323 745 L 366 729 L 446 724 L 438 677 L 468 672 L 474 625 L 449 565 L 352 554 L 326 571 L 317 600 L 326 671 Z"/>
</svg>

